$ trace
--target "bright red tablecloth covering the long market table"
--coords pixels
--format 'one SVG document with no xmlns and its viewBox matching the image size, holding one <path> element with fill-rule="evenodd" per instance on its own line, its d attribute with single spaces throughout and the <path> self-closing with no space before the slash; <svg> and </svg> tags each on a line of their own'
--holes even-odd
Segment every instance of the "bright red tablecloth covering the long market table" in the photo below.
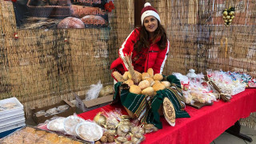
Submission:
<svg viewBox="0 0 256 144">
<path fill-rule="evenodd" d="M 103 106 L 79 116 L 93 119 L 102 109 L 110 111 L 115 107 Z M 240 118 L 246 118 L 256 111 L 256 89 L 247 89 L 234 95 L 230 102 L 214 102 L 213 106 L 205 106 L 200 110 L 186 106 L 186 111 L 191 118 L 177 118 L 174 127 L 162 118 L 162 130 L 146 134 L 146 141 L 142 143 L 209 144 Z"/>
</svg>

